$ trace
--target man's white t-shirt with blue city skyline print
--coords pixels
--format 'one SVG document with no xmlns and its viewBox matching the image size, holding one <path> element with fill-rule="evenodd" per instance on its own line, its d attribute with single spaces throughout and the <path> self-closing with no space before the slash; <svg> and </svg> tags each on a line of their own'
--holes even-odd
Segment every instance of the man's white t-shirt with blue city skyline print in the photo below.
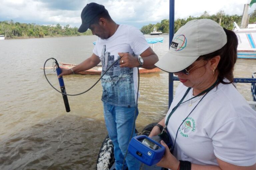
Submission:
<svg viewBox="0 0 256 170">
<path fill-rule="evenodd" d="M 118 52 L 128 52 L 138 57 L 148 47 L 149 44 L 140 30 L 129 25 L 119 25 L 115 34 L 110 38 L 106 40 L 98 38 L 93 53 L 101 59 L 103 74 L 118 59 Z M 101 85 L 102 101 L 120 107 L 136 106 L 137 67 L 120 67 L 117 61 L 103 76 Z"/>
</svg>

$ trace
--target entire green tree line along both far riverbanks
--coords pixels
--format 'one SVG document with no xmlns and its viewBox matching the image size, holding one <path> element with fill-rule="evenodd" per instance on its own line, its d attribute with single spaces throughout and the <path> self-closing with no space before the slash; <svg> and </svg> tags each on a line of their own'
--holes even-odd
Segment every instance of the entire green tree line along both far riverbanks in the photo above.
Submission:
<svg viewBox="0 0 256 170">
<path fill-rule="evenodd" d="M 207 11 L 200 17 L 189 16 L 187 19 L 177 19 L 174 21 L 174 32 L 176 32 L 181 26 L 185 25 L 188 21 L 194 19 L 208 18 L 226 29 L 233 30 L 233 23 L 241 24 L 242 16 L 239 15 L 226 15 L 224 11 L 219 11 L 217 14 L 209 15 Z M 256 22 L 256 10 L 250 14 L 249 23 Z M 169 20 L 164 19 L 161 23 L 149 24 L 143 26 L 140 31 L 145 34 L 150 34 L 153 29 L 162 33 L 169 33 Z M 43 37 L 63 37 L 63 36 L 80 36 L 80 35 L 92 35 L 91 30 L 87 30 L 85 33 L 79 33 L 77 27 L 70 27 L 69 25 L 61 26 L 57 25 L 36 25 L 19 23 L 10 21 L 0 21 L 0 35 L 4 35 L 6 38 L 43 38 Z"/>
</svg>

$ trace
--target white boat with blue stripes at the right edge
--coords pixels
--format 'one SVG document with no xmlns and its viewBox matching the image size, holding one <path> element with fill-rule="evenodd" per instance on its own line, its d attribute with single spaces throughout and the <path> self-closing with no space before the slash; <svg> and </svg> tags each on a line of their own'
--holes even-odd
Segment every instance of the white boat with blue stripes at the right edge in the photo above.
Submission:
<svg viewBox="0 0 256 170">
<path fill-rule="evenodd" d="M 256 24 L 248 24 L 247 28 L 239 28 L 234 22 L 233 31 L 238 39 L 237 57 L 256 59 Z"/>
</svg>

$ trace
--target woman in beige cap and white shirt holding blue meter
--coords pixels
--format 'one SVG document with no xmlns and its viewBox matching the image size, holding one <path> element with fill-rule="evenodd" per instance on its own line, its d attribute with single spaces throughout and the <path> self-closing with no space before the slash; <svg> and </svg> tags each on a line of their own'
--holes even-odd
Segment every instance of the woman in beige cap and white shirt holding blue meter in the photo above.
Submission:
<svg viewBox="0 0 256 170">
<path fill-rule="evenodd" d="M 192 20 L 174 35 L 155 64 L 180 84 L 161 127 L 172 138 L 158 166 L 172 170 L 255 170 L 256 112 L 236 90 L 237 37 L 209 19 Z"/>
</svg>

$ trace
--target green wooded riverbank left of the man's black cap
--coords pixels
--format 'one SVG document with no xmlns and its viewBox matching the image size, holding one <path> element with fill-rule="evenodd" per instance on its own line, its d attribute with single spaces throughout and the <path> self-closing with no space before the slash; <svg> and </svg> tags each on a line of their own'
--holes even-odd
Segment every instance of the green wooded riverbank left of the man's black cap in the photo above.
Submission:
<svg viewBox="0 0 256 170">
<path fill-rule="evenodd" d="M 91 30 L 85 33 L 79 33 L 77 27 L 71 28 L 69 25 L 61 26 L 47 25 L 40 26 L 36 24 L 14 23 L 11 21 L 0 21 L 0 35 L 8 38 L 43 38 L 43 37 L 64 37 L 64 36 L 80 36 L 92 35 Z"/>
</svg>

